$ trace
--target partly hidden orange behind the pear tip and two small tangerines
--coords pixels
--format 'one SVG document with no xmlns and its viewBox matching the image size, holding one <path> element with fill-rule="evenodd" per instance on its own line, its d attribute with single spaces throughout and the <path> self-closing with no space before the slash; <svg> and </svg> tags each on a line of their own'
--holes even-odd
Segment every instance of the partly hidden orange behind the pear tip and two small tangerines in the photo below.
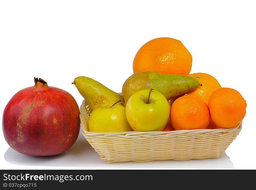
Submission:
<svg viewBox="0 0 256 190">
<path fill-rule="evenodd" d="M 207 73 L 193 73 L 187 76 L 194 77 L 202 84 L 187 94 L 193 94 L 200 96 L 206 104 L 208 104 L 208 99 L 210 95 L 217 89 L 221 88 L 219 82 L 211 75 Z"/>
</svg>

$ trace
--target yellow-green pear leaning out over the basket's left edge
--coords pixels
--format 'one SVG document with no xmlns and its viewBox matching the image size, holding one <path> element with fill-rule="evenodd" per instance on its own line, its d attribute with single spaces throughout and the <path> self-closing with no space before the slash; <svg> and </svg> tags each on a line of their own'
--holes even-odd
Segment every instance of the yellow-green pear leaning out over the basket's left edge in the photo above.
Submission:
<svg viewBox="0 0 256 190">
<path fill-rule="evenodd" d="M 92 111 L 96 108 L 112 106 L 113 102 L 117 102 L 120 99 L 122 101 L 118 104 L 124 105 L 122 95 L 112 91 L 94 79 L 80 76 L 76 77 L 72 84 L 75 84 L 77 90 L 86 100 Z"/>
</svg>

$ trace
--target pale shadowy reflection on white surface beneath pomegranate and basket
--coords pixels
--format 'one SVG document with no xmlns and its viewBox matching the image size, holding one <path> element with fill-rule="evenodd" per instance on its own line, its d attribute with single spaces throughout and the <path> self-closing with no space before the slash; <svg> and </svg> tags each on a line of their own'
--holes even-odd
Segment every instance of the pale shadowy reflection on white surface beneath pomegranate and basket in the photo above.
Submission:
<svg viewBox="0 0 256 190">
<path fill-rule="evenodd" d="M 15 165 L 81 167 L 82 169 L 234 169 L 230 158 L 224 153 L 219 158 L 205 160 L 159 160 L 150 162 L 117 162 L 107 163 L 101 160 L 98 153 L 90 146 L 80 133 L 75 144 L 66 152 L 47 157 L 33 157 L 18 153 L 8 148 L 4 158 Z"/>
</svg>

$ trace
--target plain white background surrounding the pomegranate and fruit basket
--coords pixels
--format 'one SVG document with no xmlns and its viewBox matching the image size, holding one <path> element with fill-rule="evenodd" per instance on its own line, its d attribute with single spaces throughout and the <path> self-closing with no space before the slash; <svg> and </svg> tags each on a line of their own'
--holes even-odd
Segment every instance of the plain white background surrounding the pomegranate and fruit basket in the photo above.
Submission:
<svg viewBox="0 0 256 190">
<path fill-rule="evenodd" d="M 107 164 L 81 134 L 62 155 L 31 158 L 13 151 L 1 131 L 1 169 L 256 169 L 253 1 L 0 2 L 1 115 L 33 77 L 68 91 L 79 106 L 75 77 L 121 92 L 136 52 L 157 37 L 182 41 L 193 57 L 191 73 L 214 76 L 247 102 L 240 134 L 217 159 Z"/>
</svg>

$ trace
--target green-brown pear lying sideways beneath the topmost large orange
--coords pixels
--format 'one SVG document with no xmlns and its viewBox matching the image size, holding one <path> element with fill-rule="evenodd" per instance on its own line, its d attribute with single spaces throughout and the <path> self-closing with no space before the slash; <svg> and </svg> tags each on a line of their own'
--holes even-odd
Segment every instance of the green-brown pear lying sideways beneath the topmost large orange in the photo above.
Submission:
<svg viewBox="0 0 256 190">
<path fill-rule="evenodd" d="M 193 77 L 184 75 L 163 74 L 154 71 L 134 73 L 122 86 L 125 105 L 128 99 L 139 90 L 153 88 L 162 93 L 167 100 L 191 91 L 202 84 Z"/>
</svg>

